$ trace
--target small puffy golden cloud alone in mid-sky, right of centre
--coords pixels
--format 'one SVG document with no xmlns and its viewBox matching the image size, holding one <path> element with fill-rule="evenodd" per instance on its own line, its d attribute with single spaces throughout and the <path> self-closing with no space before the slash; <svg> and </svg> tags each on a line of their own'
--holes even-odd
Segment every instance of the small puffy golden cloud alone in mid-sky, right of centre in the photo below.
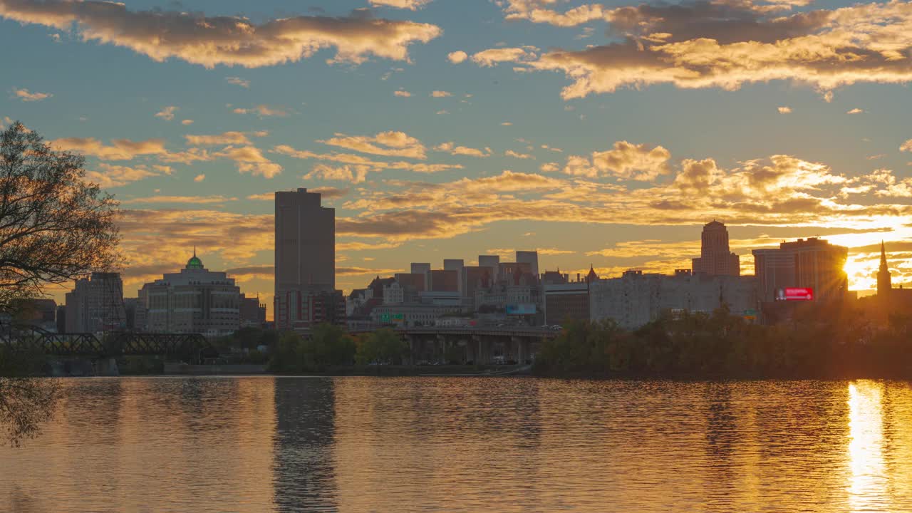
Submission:
<svg viewBox="0 0 912 513">
<path fill-rule="evenodd" d="M 591 159 L 572 155 L 567 158 L 564 173 L 596 178 L 612 175 L 627 180 L 651 181 L 666 174 L 671 153 L 661 146 L 615 142 L 606 152 L 593 152 Z"/>
</svg>

